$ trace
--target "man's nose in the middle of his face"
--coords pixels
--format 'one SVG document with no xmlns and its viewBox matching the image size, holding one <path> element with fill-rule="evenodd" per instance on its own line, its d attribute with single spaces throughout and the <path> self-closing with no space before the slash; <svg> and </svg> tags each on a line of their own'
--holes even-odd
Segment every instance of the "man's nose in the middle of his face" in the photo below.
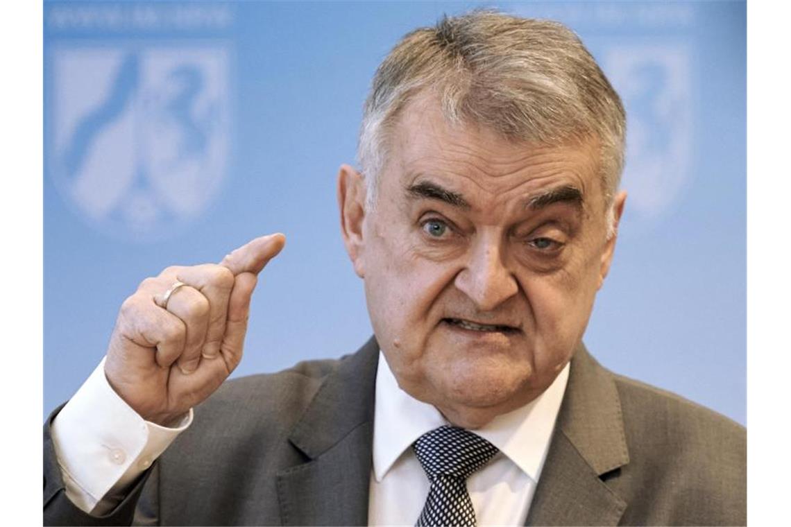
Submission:
<svg viewBox="0 0 791 527">
<path fill-rule="evenodd" d="M 500 243 L 494 236 L 482 238 L 471 248 L 464 269 L 456 275 L 456 288 L 480 311 L 492 311 L 517 294 L 517 279 L 503 262 Z"/>
</svg>

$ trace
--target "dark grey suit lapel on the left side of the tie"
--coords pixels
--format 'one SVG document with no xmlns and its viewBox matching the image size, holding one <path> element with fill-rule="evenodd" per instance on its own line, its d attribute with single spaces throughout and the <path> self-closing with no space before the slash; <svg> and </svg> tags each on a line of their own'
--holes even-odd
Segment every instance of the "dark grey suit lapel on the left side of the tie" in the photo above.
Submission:
<svg viewBox="0 0 791 527">
<path fill-rule="evenodd" d="M 290 442 L 308 462 L 278 472 L 283 525 L 365 525 L 379 345 L 372 338 L 327 376 Z"/>
</svg>

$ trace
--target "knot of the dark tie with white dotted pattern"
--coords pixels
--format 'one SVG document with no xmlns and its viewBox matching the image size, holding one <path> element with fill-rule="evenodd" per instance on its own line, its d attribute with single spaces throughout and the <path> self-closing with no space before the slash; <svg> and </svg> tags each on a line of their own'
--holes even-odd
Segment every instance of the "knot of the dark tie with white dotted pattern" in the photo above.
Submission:
<svg viewBox="0 0 791 527">
<path fill-rule="evenodd" d="M 430 480 L 440 474 L 465 480 L 498 453 L 480 435 L 447 425 L 421 435 L 412 448 Z"/>
</svg>

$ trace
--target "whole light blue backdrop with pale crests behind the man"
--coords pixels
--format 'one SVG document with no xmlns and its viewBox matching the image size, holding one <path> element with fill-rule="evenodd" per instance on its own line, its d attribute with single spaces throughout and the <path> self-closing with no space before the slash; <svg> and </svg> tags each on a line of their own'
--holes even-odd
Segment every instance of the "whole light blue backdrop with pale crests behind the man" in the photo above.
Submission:
<svg viewBox="0 0 791 527">
<path fill-rule="evenodd" d="M 745 423 L 744 2 L 44 2 L 44 414 L 143 278 L 268 232 L 288 243 L 234 376 L 362 344 L 335 175 L 384 55 L 476 7 L 570 26 L 626 106 L 629 198 L 589 349 Z"/>
</svg>

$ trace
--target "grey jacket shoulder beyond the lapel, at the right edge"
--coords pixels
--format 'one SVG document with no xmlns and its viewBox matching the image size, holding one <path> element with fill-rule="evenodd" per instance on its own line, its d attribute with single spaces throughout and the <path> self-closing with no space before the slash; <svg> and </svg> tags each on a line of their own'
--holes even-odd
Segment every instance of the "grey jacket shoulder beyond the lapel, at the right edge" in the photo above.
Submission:
<svg viewBox="0 0 791 527">
<path fill-rule="evenodd" d="M 614 375 L 629 463 L 610 483 L 637 489 L 625 518 L 650 516 L 668 525 L 744 525 L 747 432 L 721 414 L 621 375 Z M 641 510 L 645 508 L 645 510 Z"/>
</svg>

